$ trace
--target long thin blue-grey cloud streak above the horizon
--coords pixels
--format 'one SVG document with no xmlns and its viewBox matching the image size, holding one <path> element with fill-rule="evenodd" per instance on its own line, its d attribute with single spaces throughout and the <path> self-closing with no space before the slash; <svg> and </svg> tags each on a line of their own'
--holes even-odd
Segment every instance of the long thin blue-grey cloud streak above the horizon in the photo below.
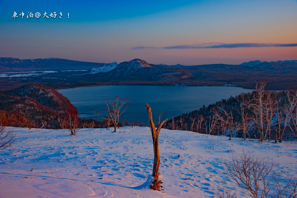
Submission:
<svg viewBox="0 0 297 198">
<path fill-rule="evenodd" d="M 159 47 L 160 49 L 208 49 L 238 47 L 296 47 L 297 43 L 195 43 L 192 45 L 176 45 Z M 132 47 L 131 49 L 147 49 L 157 47 Z"/>
</svg>

